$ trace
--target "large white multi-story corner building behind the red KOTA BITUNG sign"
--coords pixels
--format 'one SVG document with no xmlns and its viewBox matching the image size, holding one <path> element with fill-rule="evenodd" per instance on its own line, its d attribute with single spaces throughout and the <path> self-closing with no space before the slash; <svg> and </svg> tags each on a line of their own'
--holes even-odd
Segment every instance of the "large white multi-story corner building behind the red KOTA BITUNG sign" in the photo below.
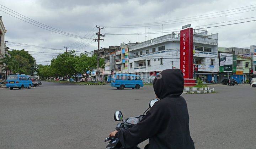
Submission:
<svg viewBox="0 0 256 149">
<path fill-rule="evenodd" d="M 194 29 L 193 40 L 196 77 L 217 81 L 218 34 L 207 35 L 207 31 Z M 180 68 L 180 34 L 129 44 L 128 72 L 139 74 L 144 82 L 151 83 L 158 72 L 172 68 Z"/>
</svg>

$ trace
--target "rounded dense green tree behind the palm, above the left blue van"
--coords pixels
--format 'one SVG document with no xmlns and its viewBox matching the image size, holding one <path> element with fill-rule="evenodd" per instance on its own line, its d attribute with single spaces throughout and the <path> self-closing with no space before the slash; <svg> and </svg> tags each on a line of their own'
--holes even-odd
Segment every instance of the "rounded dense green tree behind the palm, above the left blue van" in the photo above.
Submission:
<svg viewBox="0 0 256 149">
<path fill-rule="evenodd" d="M 36 60 L 28 51 L 22 50 L 12 50 L 9 54 L 15 58 L 18 62 L 18 67 L 14 68 L 14 73 L 20 73 L 25 75 L 32 75 L 36 70 Z"/>
</svg>

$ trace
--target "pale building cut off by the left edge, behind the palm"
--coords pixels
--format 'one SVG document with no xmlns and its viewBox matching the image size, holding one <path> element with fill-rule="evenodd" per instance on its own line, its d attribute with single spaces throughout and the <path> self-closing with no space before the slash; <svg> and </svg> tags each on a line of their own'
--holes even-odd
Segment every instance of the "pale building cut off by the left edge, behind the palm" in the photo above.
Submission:
<svg viewBox="0 0 256 149">
<path fill-rule="evenodd" d="M 5 45 L 5 33 L 6 29 L 4 27 L 4 23 L 2 22 L 2 17 L 0 16 L 0 58 L 4 57 L 5 54 L 8 53 L 8 48 Z M 4 77 L 6 72 L 2 70 L 2 66 L 0 65 L 0 78 Z"/>
</svg>

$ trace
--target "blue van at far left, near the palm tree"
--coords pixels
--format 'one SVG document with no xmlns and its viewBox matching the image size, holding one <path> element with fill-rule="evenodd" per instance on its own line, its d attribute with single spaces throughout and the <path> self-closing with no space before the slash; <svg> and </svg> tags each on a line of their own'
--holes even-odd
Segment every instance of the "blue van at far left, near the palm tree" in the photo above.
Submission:
<svg viewBox="0 0 256 149">
<path fill-rule="evenodd" d="M 9 87 L 10 89 L 22 89 L 24 87 L 31 88 L 31 85 L 32 81 L 30 77 L 26 75 L 9 75 L 6 80 L 6 87 Z"/>
</svg>

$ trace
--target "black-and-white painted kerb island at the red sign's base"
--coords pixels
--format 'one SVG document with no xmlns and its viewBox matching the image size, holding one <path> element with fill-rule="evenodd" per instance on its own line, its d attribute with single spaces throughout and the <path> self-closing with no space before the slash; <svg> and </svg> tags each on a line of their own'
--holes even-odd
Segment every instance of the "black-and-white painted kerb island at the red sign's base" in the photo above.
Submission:
<svg viewBox="0 0 256 149">
<path fill-rule="evenodd" d="M 185 87 L 183 94 L 207 94 L 215 93 L 214 88 L 210 89 L 209 87 Z"/>
</svg>

